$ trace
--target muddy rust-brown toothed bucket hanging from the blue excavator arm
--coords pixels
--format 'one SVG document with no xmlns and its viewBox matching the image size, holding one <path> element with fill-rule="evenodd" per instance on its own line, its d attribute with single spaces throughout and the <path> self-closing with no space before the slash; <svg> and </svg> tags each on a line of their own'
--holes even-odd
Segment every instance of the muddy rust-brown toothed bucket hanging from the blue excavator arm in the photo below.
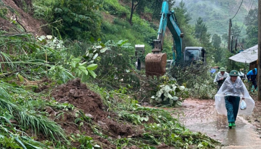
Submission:
<svg viewBox="0 0 261 149">
<path fill-rule="evenodd" d="M 166 72 L 166 64 L 167 64 L 167 54 L 166 53 L 149 53 L 145 57 L 145 70 L 146 76 L 154 75 L 159 78 L 159 76 L 164 75 Z"/>
</svg>

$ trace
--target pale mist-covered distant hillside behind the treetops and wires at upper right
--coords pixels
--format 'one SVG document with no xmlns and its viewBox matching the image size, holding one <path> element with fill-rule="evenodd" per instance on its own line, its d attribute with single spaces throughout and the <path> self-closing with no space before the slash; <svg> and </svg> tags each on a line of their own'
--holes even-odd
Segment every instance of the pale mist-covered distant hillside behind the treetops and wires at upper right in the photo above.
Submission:
<svg viewBox="0 0 261 149">
<path fill-rule="evenodd" d="M 178 6 L 182 0 L 176 0 Z M 208 32 L 222 35 L 228 33 L 229 19 L 232 26 L 242 28 L 241 35 L 245 34 L 244 21 L 250 9 L 258 7 L 258 0 L 183 0 L 190 13 L 190 24 L 195 25 L 196 20 L 202 17 L 208 26 Z M 242 3 L 242 4 L 241 4 Z"/>
</svg>

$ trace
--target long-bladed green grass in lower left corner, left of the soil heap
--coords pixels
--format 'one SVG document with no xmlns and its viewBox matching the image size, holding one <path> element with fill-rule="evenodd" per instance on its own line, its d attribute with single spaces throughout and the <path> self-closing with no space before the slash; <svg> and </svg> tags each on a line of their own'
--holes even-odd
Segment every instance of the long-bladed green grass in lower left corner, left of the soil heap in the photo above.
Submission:
<svg viewBox="0 0 261 149">
<path fill-rule="evenodd" d="M 1 117 L 6 117 L 5 119 L 2 119 L 3 121 L 1 125 L 1 130 L 6 131 L 6 134 L 4 134 L 3 132 L 1 133 L 2 137 L 15 139 L 17 142 L 20 143 L 18 146 L 21 147 L 30 146 L 30 143 L 34 145 L 38 144 L 38 147 L 44 147 L 43 145 L 40 145 L 41 143 L 33 141 L 27 135 L 22 135 L 25 134 L 23 131 L 28 130 L 30 130 L 31 133 L 35 134 L 42 133 L 47 138 L 51 138 L 56 142 L 59 141 L 57 140 L 57 138 L 59 138 L 60 141 L 66 140 L 64 131 L 61 129 L 61 126 L 50 120 L 45 115 L 45 112 L 41 111 L 47 103 L 41 102 L 42 100 L 39 100 L 39 98 L 35 98 L 37 97 L 37 94 L 26 91 L 21 87 L 16 88 L 14 85 L 1 81 L 0 97 L 0 109 L 1 111 L 4 111 L 2 112 Z M 11 124 L 9 120 L 15 120 L 17 123 Z M 5 126 L 3 126 L 3 124 L 5 123 L 10 123 L 9 126 L 11 126 L 12 128 L 18 127 L 21 130 L 10 129 L 8 127 L 4 129 Z M 21 136 L 19 136 L 19 134 L 21 134 Z M 4 141 L 5 140 L 2 140 L 1 142 L 4 145 L 7 145 L 7 143 L 4 143 Z M 29 144 L 25 143 L 23 145 L 23 143 L 21 142 L 28 142 Z M 33 148 L 37 148 L 37 146 L 34 146 Z"/>
</svg>

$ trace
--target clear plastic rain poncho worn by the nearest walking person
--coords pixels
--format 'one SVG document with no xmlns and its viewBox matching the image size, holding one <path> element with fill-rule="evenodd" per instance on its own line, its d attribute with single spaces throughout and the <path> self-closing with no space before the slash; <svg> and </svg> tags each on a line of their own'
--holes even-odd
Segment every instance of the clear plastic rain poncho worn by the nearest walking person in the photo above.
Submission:
<svg viewBox="0 0 261 149">
<path fill-rule="evenodd" d="M 227 115 L 227 109 L 225 106 L 225 96 L 237 96 L 240 97 L 240 103 L 242 101 L 242 97 L 245 98 L 247 108 L 245 110 L 238 110 L 238 115 L 251 115 L 255 106 L 255 102 L 252 97 L 249 95 L 245 84 L 238 76 L 235 83 L 228 76 L 227 79 L 222 84 L 221 88 L 218 90 L 218 93 L 215 95 L 215 106 L 218 111 L 218 114 Z"/>
</svg>

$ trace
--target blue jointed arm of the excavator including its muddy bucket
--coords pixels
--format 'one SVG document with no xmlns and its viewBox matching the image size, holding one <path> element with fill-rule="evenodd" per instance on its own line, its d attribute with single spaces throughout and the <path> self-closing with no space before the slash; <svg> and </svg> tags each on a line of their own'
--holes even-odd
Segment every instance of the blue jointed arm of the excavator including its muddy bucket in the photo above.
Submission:
<svg viewBox="0 0 261 149">
<path fill-rule="evenodd" d="M 169 9 L 168 0 L 163 0 L 158 37 L 154 40 L 154 49 L 152 50 L 152 53 L 149 53 L 145 57 L 146 76 L 151 75 L 153 77 L 153 75 L 156 75 L 158 77 L 159 75 L 164 75 L 166 72 L 167 54 L 162 53 L 162 50 L 167 27 L 173 36 L 173 46 L 176 49 L 177 55 L 176 64 L 181 64 L 183 33 L 181 33 L 181 30 L 176 23 L 174 11 L 170 11 Z M 173 56 L 173 59 L 175 61 L 175 56 Z"/>
</svg>

